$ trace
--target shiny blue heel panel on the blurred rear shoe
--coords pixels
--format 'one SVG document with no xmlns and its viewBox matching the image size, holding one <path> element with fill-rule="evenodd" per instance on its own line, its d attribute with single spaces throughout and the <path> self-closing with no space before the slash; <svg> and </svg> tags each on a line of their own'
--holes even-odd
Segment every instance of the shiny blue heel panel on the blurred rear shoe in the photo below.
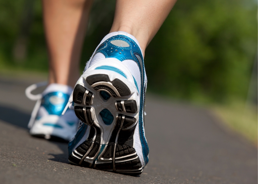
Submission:
<svg viewBox="0 0 258 184">
<path fill-rule="evenodd" d="M 49 114 L 60 116 L 69 100 L 69 95 L 63 92 L 51 92 L 43 96 L 41 105 Z"/>
</svg>

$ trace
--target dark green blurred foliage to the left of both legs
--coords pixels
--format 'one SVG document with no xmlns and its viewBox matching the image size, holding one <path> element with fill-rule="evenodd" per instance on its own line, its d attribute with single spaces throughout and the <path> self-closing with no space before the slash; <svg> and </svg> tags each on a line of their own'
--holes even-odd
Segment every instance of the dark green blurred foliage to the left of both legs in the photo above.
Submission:
<svg viewBox="0 0 258 184">
<path fill-rule="evenodd" d="M 27 55 L 24 61 L 15 61 L 14 46 L 22 33 L 28 3 L 32 3 L 32 24 L 28 26 Z M 0 66 L 47 71 L 47 49 L 41 15 L 40 0 L 0 0 Z M 25 35 L 26 36 L 26 35 Z"/>
</svg>

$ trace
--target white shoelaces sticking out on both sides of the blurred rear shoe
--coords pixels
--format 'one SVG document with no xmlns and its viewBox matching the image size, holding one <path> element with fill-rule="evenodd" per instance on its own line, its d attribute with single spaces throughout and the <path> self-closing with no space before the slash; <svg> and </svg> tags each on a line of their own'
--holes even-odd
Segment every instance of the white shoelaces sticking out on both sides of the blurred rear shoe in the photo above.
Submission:
<svg viewBox="0 0 258 184">
<path fill-rule="evenodd" d="M 37 95 L 33 95 L 31 92 L 34 91 L 35 89 L 39 88 L 39 87 L 46 86 L 46 85 L 48 85 L 48 82 L 44 81 L 44 82 L 32 84 L 25 89 L 25 95 L 27 96 L 27 98 L 32 100 L 32 101 L 37 101 L 33 110 L 32 110 L 31 118 L 30 118 L 30 121 L 28 123 L 28 128 L 31 128 L 32 125 L 34 124 L 36 116 L 37 116 L 37 112 L 40 108 L 41 100 L 42 100 L 42 94 L 41 93 L 39 93 Z M 72 102 L 73 102 L 72 94 L 73 94 L 73 92 L 71 93 L 71 95 L 69 97 L 68 103 L 65 106 L 65 109 L 63 110 L 62 115 L 67 111 L 68 107 L 69 107 L 69 109 L 74 109 L 74 106 L 72 104 Z"/>
</svg>

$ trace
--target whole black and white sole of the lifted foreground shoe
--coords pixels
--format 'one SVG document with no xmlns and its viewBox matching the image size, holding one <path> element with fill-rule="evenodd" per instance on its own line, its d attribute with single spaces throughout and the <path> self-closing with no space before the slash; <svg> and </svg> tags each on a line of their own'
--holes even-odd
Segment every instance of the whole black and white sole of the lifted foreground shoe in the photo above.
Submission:
<svg viewBox="0 0 258 184">
<path fill-rule="evenodd" d="M 106 74 L 89 75 L 83 83 L 75 86 L 73 101 L 75 114 L 89 126 L 89 134 L 69 156 L 69 161 L 88 168 L 141 174 L 143 167 L 133 148 L 139 115 L 133 92 L 120 79 L 110 81 Z M 109 104 L 108 109 L 102 107 L 105 103 Z"/>
</svg>

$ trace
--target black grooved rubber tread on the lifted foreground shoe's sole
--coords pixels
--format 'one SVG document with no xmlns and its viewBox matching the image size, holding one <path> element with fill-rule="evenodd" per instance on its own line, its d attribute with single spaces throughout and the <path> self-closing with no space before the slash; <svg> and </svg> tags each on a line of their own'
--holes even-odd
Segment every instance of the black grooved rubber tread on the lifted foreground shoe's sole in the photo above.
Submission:
<svg viewBox="0 0 258 184">
<path fill-rule="evenodd" d="M 110 82 L 108 75 L 96 74 L 86 78 L 89 85 L 96 82 Z M 128 96 L 131 94 L 130 89 L 125 83 L 119 79 L 111 81 L 119 92 L 120 96 Z M 104 83 L 105 84 L 105 83 Z M 110 83 L 109 83 L 110 84 Z M 115 92 L 108 86 L 98 85 L 94 90 L 102 92 L 102 94 L 112 94 L 117 97 Z M 105 92 L 105 93 L 103 93 Z M 96 92 L 97 93 L 97 92 Z M 96 94 L 94 92 L 94 94 Z M 133 148 L 133 135 L 136 127 L 136 119 L 132 116 L 124 115 L 126 113 L 136 113 L 137 104 L 135 100 L 115 101 L 115 107 L 118 115 L 114 120 L 114 114 L 108 109 L 103 109 L 100 116 L 106 125 L 114 126 L 107 145 L 101 145 L 101 129 L 94 125 L 94 118 L 91 116 L 93 110 L 92 96 L 93 92 L 77 84 L 74 89 L 73 98 L 75 104 L 76 116 L 85 124 L 89 125 L 90 132 L 88 139 L 81 143 L 69 156 L 71 163 L 90 167 L 95 169 L 113 171 L 117 173 L 127 173 L 138 175 L 142 172 L 140 159 Z M 110 98 L 109 95 L 103 97 L 103 101 Z M 85 99 L 85 101 L 84 101 Z M 88 105 L 80 106 L 80 105 Z M 114 123 L 113 123 L 114 122 Z"/>
</svg>

